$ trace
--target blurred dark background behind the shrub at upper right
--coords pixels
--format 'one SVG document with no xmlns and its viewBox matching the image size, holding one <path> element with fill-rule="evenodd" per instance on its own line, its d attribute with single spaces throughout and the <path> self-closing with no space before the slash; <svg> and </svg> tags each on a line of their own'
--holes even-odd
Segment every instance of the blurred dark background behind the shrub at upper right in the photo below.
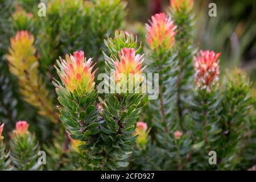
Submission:
<svg viewBox="0 0 256 182">
<path fill-rule="evenodd" d="M 209 3 L 216 3 L 217 17 L 210 17 Z M 167 11 L 169 0 L 129 0 L 127 30 L 143 38 L 144 23 L 155 13 Z M 195 0 L 195 44 L 199 49 L 221 52 L 221 69 L 240 67 L 256 86 L 256 1 Z"/>
</svg>

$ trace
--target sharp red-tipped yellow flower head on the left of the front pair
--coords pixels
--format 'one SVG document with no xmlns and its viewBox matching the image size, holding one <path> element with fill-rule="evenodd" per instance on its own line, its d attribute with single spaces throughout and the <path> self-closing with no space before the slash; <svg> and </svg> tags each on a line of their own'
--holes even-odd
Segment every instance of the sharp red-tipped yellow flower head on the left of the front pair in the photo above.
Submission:
<svg viewBox="0 0 256 182">
<path fill-rule="evenodd" d="M 73 55 L 66 55 L 66 59 L 62 60 L 61 63 L 57 61 L 60 70 L 57 69 L 60 77 L 64 81 L 65 87 L 70 91 L 77 93 L 83 93 L 84 91 L 89 92 L 94 88 L 94 73 L 92 73 L 92 58 L 86 61 L 84 57 L 84 51 L 76 51 Z"/>
</svg>

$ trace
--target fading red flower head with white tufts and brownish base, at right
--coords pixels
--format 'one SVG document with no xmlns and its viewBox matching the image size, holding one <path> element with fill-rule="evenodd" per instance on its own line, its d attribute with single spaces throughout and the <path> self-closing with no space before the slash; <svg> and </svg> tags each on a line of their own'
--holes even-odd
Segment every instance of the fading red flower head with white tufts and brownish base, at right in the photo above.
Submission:
<svg viewBox="0 0 256 182">
<path fill-rule="evenodd" d="M 196 89 L 206 89 L 207 92 L 212 91 L 214 86 L 218 85 L 218 75 L 220 74 L 218 57 L 221 53 L 213 51 L 200 51 L 200 55 L 194 56 L 193 63 L 195 74 Z"/>
</svg>

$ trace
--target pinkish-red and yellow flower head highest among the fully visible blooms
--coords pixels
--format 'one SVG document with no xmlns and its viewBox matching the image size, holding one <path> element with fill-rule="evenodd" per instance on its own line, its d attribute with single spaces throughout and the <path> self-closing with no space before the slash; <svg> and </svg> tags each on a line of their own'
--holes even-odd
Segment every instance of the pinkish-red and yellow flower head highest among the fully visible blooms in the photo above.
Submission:
<svg viewBox="0 0 256 182">
<path fill-rule="evenodd" d="M 149 24 L 146 24 L 147 29 L 147 43 L 151 49 L 163 48 L 164 50 L 170 50 L 175 43 L 174 36 L 176 26 L 171 19 L 171 16 L 167 16 L 165 13 L 159 13 L 152 16 L 152 20 L 148 20 Z"/>
</svg>

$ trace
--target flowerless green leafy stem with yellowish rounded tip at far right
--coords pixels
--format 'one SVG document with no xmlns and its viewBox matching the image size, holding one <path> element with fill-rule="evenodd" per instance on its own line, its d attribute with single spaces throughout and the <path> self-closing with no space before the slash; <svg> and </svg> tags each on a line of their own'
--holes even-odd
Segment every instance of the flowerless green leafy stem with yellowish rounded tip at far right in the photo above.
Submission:
<svg viewBox="0 0 256 182">
<path fill-rule="evenodd" d="M 241 162 L 241 152 L 246 139 L 245 123 L 252 104 L 250 86 L 249 79 L 238 70 L 233 71 L 224 81 L 221 113 L 224 134 L 218 149 L 221 156 L 219 169 L 234 169 Z"/>
</svg>

